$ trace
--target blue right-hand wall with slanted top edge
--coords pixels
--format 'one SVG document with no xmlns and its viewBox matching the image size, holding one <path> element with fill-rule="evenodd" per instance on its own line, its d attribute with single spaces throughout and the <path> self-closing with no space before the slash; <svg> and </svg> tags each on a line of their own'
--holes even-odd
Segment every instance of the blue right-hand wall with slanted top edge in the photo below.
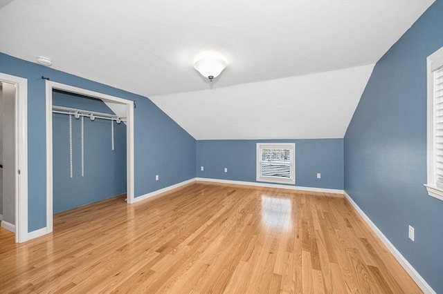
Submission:
<svg viewBox="0 0 443 294">
<path fill-rule="evenodd" d="M 379 60 L 345 135 L 346 192 L 437 293 L 443 293 L 443 202 L 423 184 L 426 57 L 441 46 L 438 0 Z"/>
</svg>

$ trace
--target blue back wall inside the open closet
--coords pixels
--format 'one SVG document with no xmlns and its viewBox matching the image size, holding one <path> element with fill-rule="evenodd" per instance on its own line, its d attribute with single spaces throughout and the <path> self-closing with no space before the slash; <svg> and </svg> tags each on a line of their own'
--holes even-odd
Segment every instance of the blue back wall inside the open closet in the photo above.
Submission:
<svg viewBox="0 0 443 294">
<path fill-rule="evenodd" d="M 112 112 L 98 99 L 53 91 L 53 105 Z M 126 193 L 126 125 L 84 117 L 84 177 L 81 174 L 81 119 L 72 117 L 73 177 L 69 166 L 69 115 L 53 114 L 53 212 Z"/>
</svg>

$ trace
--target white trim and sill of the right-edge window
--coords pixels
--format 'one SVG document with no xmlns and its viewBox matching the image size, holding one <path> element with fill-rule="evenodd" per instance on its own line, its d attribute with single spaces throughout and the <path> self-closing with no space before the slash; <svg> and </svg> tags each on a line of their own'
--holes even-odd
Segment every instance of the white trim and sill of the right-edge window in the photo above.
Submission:
<svg viewBox="0 0 443 294">
<path fill-rule="evenodd" d="M 426 59 L 426 74 L 428 81 L 428 141 L 427 141 L 427 160 L 428 160 L 428 181 L 426 189 L 429 196 L 443 201 L 443 189 L 435 184 L 435 154 L 434 154 L 434 101 L 433 101 L 433 71 L 443 65 L 443 47 L 433 52 Z"/>
</svg>

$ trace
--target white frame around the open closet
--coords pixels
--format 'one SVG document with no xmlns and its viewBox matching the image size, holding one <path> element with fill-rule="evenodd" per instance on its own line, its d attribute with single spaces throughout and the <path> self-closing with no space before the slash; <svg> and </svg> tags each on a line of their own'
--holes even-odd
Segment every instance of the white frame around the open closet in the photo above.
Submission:
<svg viewBox="0 0 443 294">
<path fill-rule="evenodd" d="M 134 203 L 134 102 L 54 81 L 46 81 L 46 233 L 53 231 L 53 90 L 126 105 L 127 203 Z"/>
</svg>

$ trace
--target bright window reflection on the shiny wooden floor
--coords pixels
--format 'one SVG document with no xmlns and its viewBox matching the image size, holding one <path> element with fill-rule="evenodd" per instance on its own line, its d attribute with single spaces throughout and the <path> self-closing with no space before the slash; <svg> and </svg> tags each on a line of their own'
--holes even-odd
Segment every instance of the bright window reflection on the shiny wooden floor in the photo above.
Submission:
<svg viewBox="0 0 443 294">
<path fill-rule="evenodd" d="M 290 199 L 262 195 L 262 223 L 273 231 L 288 231 L 292 228 L 292 203 Z"/>
</svg>

